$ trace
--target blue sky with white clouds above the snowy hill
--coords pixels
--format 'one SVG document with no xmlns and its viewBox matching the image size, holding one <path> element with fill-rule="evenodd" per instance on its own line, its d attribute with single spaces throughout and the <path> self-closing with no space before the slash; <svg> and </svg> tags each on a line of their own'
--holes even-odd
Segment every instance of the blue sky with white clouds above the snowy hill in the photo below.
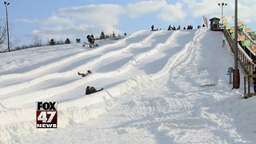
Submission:
<svg viewBox="0 0 256 144">
<path fill-rule="evenodd" d="M 6 22 L 5 6 L 0 4 L 0 20 Z M 224 15 L 234 21 L 234 0 L 9 0 L 8 14 L 12 39 L 18 46 L 42 43 L 51 38 L 85 41 L 87 34 L 131 34 L 137 30 L 166 30 L 169 25 L 202 25 L 202 15 L 210 19 L 221 16 L 218 2 L 226 2 Z M 255 0 L 239 0 L 238 17 L 252 30 L 256 28 Z"/>
</svg>

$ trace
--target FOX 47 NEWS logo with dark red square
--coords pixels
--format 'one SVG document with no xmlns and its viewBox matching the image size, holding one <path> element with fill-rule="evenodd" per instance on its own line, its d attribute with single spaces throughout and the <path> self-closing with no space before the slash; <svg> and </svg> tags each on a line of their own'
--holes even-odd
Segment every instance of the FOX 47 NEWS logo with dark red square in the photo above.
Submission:
<svg viewBox="0 0 256 144">
<path fill-rule="evenodd" d="M 37 128 L 57 128 L 57 102 L 37 102 Z"/>
</svg>

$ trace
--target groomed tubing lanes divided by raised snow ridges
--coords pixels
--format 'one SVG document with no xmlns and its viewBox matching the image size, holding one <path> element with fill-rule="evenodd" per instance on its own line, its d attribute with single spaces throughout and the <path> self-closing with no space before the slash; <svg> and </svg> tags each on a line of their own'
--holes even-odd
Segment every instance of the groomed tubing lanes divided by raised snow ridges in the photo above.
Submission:
<svg viewBox="0 0 256 144">
<path fill-rule="evenodd" d="M 97 117 L 105 111 L 102 102 L 118 98 L 138 83 L 160 78 L 168 74 L 176 62 L 185 61 L 206 33 L 211 32 L 203 28 L 140 30 L 117 42 L 98 42 L 95 49 L 66 46 L 62 50 L 78 51 L 38 62 L 37 66 L 27 65 L 30 68 L 24 68 L 22 73 L 15 73 L 15 69 L 10 70 L 10 74 L 0 71 L 0 143 L 15 142 L 11 140 L 14 137 L 26 138 L 30 135 L 27 131 L 34 133 L 37 101 L 58 102 L 58 127 Z M 40 50 L 44 49 L 19 53 L 35 53 L 40 58 Z M 59 49 L 52 50 L 58 53 Z M 25 55 L 25 60 L 26 57 L 30 55 Z M 94 73 L 85 78 L 77 75 L 78 71 L 86 70 Z M 86 86 L 104 87 L 104 90 L 85 95 Z M 14 131 L 20 134 L 15 135 Z"/>
</svg>

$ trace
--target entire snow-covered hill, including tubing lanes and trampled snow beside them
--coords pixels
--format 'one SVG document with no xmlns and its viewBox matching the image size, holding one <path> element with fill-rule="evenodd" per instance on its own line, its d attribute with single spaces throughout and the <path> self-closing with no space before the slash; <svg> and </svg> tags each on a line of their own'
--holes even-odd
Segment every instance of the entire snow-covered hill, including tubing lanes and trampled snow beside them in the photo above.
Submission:
<svg viewBox="0 0 256 144">
<path fill-rule="evenodd" d="M 223 38 L 141 30 L 95 49 L 0 54 L 0 143 L 254 143 L 256 101 L 232 90 Z M 104 90 L 85 95 L 86 86 Z M 36 128 L 37 101 L 58 102 L 58 129 Z"/>
</svg>

